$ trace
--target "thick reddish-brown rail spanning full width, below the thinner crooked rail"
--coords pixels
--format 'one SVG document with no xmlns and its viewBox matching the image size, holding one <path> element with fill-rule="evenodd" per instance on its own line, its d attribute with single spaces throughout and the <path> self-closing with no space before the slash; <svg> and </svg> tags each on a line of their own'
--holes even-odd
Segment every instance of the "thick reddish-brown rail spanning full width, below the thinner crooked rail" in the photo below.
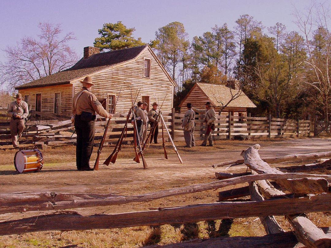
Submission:
<svg viewBox="0 0 331 248">
<path fill-rule="evenodd" d="M 258 202 L 222 202 L 123 214 L 81 216 L 58 212 L 51 215 L 0 222 L 0 235 L 50 230 L 110 229 L 142 225 L 180 224 L 203 220 L 294 215 L 331 211 L 331 194 Z"/>
</svg>

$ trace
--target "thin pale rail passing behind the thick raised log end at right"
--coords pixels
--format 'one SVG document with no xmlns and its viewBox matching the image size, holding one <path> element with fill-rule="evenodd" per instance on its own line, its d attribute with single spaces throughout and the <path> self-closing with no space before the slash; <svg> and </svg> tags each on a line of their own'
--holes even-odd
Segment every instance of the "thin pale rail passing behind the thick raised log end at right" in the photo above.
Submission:
<svg viewBox="0 0 331 248">
<path fill-rule="evenodd" d="M 286 161 L 301 161 L 301 160 L 312 160 L 312 159 L 319 159 L 324 157 L 331 157 L 331 151 L 329 152 L 321 152 L 321 153 L 307 153 L 307 154 L 290 154 L 285 155 L 282 157 L 275 157 L 275 158 L 262 158 L 264 162 L 267 163 L 281 163 Z M 213 164 L 212 167 L 221 167 L 225 165 L 234 165 L 234 164 L 243 164 L 244 159 L 239 160 L 232 160 L 232 161 L 226 161 L 218 164 Z"/>
</svg>

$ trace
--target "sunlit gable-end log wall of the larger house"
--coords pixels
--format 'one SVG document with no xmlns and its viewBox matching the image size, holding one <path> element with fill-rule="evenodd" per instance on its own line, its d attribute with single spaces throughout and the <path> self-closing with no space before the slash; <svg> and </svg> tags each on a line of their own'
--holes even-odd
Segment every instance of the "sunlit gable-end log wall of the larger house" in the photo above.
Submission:
<svg viewBox="0 0 331 248">
<path fill-rule="evenodd" d="M 149 78 L 143 75 L 144 59 L 150 59 L 151 61 Z M 162 105 L 162 111 L 167 113 L 172 111 L 174 85 L 149 49 L 146 49 L 134 61 L 102 70 L 91 75 L 91 77 L 95 84 L 92 86 L 91 92 L 96 95 L 99 101 L 107 99 L 108 94 L 115 95 L 116 100 L 122 86 L 116 105 L 116 113 L 126 113 L 132 106 L 129 87 L 132 90 L 133 97 L 137 94 L 136 91 L 140 89 L 135 104 L 137 101 L 143 100 L 143 96 L 148 96 L 148 109 L 151 109 L 151 104 L 156 101 L 155 93 L 160 105 L 165 99 Z M 73 84 L 73 94 L 76 94 L 81 90 L 82 84 L 79 81 Z"/>
</svg>

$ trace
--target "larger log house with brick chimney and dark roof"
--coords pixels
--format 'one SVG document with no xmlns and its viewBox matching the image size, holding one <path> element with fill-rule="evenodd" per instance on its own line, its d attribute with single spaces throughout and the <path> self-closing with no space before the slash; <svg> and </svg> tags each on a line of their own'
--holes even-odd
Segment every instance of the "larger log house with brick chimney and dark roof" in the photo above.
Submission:
<svg viewBox="0 0 331 248">
<path fill-rule="evenodd" d="M 156 101 L 163 102 L 163 112 L 171 112 L 175 82 L 166 72 L 149 45 L 99 53 L 97 47 L 85 47 L 84 57 L 74 66 L 47 77 L 18 86 L 32 110 L 71 116 L 73 96 L 82 88 L 83 80 L 91 76 L 91 92 L 110 112 L 118 98 L 114 113 L 127 113 L 133 98 L 145 101 L 148 108 Z M 161 103 L 160 103 L 161 104 Z"/>
</svg>

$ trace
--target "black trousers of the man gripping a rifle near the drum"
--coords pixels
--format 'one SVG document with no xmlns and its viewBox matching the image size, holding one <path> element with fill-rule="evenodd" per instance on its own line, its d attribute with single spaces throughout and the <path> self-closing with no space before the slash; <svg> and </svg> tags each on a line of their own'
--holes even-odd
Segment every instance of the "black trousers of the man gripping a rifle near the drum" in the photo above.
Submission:
<svg viewBox="0 0 331 248">
<path fill-rule="evenodd" d="M 78 170 L 88 169 L 93 151 L 94 121 L 82 121 L 80 115 L 76 115 L 74 125 L 77 134 L 76 166 Z"/>
</svg>

